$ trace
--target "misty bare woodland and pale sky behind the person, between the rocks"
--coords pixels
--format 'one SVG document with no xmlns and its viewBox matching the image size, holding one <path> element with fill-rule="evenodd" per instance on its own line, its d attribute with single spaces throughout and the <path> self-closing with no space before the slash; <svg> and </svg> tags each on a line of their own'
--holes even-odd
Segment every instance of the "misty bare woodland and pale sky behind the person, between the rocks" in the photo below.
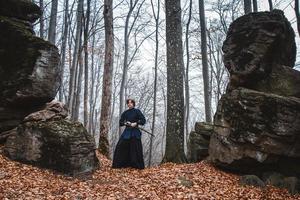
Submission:
<svg viewBox="0 0 300 200">
<path fill-rule="evenodd" d="M 228 83 L 222 43 L 230 23 L 245 13 L 291 7 L 275 0 L 35 3 L 42 9 L 36 34 L 60 51 L 57 98 L 107 156 L 119 137 L 125 99 L 134 98 L 144 128 L 155 135 L 143 135 L 149 165 L 185 161 L 195 122 L 213 120 Z M 298 1 L 292 9 L 299 29 Z"/>
</svg>

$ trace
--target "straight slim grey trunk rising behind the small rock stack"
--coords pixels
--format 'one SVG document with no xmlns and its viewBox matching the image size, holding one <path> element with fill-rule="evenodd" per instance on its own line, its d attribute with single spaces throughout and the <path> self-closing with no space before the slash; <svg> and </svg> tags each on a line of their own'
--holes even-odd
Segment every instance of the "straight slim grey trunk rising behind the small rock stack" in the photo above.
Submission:
<svg viewBox="0 0 300 200">
<path fill-rule="evenodd" d="M 205 104 L 205 120 L 211 122 L 211 105 L 209 101 L 209 70 L 207 63 L 207 41 L 206 41 L 206 23 L 204 0 L 199 0 L 199 15 L 201 26 L 201 56 L 202 56 L 202 74 L 204 85 L 204 104 Z"/>
</svg>

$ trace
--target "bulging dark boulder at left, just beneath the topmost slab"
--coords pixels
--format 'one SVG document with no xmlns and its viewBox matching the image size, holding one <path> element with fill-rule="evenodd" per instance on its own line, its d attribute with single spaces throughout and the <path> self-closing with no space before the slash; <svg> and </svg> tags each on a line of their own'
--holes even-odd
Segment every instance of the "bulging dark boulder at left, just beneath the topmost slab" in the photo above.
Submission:
<svg viewBox="0 0 300 200">
<path fill-rule="evenodd" d="M 58 49 L 24 21 L 0 16 L 0 105 L 44 104 L 59 87 Z"/>
</svg>

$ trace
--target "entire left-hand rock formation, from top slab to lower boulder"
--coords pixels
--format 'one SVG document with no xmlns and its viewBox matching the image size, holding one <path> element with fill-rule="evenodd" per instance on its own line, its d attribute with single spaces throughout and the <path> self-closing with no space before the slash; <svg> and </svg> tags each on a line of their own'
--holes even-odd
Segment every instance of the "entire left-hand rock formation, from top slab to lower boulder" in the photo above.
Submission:
<svg viewBox="0 0 300 200">
<path fill-rule="evenodd" d="M 31 23 L 39 16 L 29 0 L 0 1 L 0 142 L 6 140 L 4 153 L 13 160 L 70 175 L 91 172 L 98 167 L 94 138 L 52 101 L 59 54 L 34 36 Z"/>
</svg>

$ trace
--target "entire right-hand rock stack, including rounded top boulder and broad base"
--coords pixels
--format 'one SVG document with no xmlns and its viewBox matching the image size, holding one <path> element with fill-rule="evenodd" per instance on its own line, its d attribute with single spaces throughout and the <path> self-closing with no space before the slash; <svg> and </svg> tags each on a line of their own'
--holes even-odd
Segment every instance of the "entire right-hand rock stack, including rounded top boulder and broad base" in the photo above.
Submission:
<svg viewBox="0 0 300 200">
<path fill-rule="evenodd" d="M 279 10 L 242 16 L 223 50 L 230 83 L 214 116 L 209 159 L 246 174 L 300 177 L 300 72 L 290 23 Z"/>
</svg>

